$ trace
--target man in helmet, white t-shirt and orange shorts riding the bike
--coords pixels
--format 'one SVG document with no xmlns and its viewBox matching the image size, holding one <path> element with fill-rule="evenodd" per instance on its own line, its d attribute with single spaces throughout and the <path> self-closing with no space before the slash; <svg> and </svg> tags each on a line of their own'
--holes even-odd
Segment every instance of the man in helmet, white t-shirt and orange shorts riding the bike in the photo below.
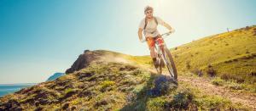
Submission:
<svg viewBox="0 0 256 111">
<path fill-rule="evenodd" d="M 160 48 L 164 50 L 164 39 L 160 36 L 159 31 L 157 30 L 157 25 L 165 26 L 170 32 L 173 32 L 171 25 L 168 25 L 165 21 L 160 19 L 159 17 L 153 16 L 154 8 L 147 6 L 144 8 L 145 18 L 142 19 L 139 29 L 138 29 L 138 36 L 141 42 L 147 41 L 148 48 L 150 50 L 150 56 L 153 59 L 154 67 L 158 67 L 156 62 L 156 53 L 154 51 L 154 43 L 157 41 L 159 42 Z M 143 34 L 145 39 L 143 39 Z"/>
</svg>

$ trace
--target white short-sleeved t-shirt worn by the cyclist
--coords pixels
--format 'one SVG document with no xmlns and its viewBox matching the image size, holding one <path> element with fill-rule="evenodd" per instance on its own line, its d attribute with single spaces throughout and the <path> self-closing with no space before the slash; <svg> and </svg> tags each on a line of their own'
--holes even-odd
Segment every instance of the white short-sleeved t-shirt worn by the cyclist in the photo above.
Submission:
<svg viewBox="0 0 256 111">
<path fill-rule="evenodd" d="M 155 19 L 157 20 L 159 25 L 163 25 L 165 22 L 160 19 L 159 17 L 155 17 Z M 145 18 L 142 19 L 139 28 L 144 29 L 144 25 L 145 25 Z M 143 30 L 144 36 L 151 36 L 151 37 L 155 37 L 160 35 L 159 31 L 157 30 L 157 25 L 154 21 L 154 19 L 148 21 L 148 24 L 145 28 L 145 30 Z"/>
</svg>

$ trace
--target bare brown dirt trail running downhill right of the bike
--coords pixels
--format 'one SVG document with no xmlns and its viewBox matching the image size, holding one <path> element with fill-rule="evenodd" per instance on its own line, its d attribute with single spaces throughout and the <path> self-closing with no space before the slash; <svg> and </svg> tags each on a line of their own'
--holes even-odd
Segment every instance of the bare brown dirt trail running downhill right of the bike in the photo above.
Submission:
<svg viewBox="0 0 256 111">
<path fill-rule="evenodd" d="M 232 103 L 242 103 L 249 108 L 256 110 L 256 93 L 232 92 L 232 90 L 225 88 L 224 86 L 212 85 L 211 80 L 209 79 L 199 77 L 178 75 L 178 81 L 189 82 L 190 85 L 200 88 L 201 92 L 227 97 Z"/>
</svg>

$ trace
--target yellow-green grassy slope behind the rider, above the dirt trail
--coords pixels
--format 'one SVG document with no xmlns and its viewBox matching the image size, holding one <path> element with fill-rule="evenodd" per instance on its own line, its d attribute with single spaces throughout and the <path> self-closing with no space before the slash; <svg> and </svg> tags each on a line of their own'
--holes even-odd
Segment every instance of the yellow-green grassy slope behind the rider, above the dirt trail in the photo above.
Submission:
<svg viewBox="0 0 256 111">
<path fill-rule="evenodd" d="M 179 71 L 256 82 L 256 26 L 207 36 L 171 50 Z"/>
</svg>

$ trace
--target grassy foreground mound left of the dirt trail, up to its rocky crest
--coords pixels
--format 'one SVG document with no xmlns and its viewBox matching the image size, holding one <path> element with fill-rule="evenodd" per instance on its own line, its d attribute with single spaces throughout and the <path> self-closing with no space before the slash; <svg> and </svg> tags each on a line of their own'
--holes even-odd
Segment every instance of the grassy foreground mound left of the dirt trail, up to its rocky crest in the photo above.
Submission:
<svg viewBox="0 0 256 111">
<path fill-rule="evenodd" d="M 83 69 L 1 97 L 0 110 L 247 110 L 245 105 L 203 93 L 188 82 L 179 81 L 177 86 L 166 76 L 150 71 L 148 60 L 142 60 L 142 65 L 131 61 L 141 57 L 108 51 L 82 55 L 88 58 L 96 54 L 101 59 Z M 115 57 L 124 58 L 113 61 Z M 82 64 L 86 62 L 78 66 Z"/>
</svg>

